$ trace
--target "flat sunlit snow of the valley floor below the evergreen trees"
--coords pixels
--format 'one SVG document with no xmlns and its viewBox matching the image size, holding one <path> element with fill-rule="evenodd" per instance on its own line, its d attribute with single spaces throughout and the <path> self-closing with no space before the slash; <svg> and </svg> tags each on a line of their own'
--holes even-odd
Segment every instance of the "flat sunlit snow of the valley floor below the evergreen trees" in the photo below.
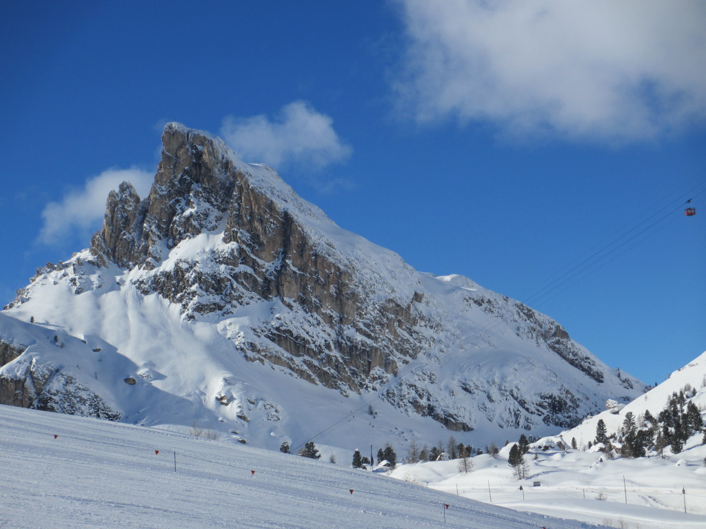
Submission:
<svg viewBox="0 0 706 529">
<path fill-rule="evenodd" d="M 706 446 L 700 444 L 700 437 L 693 436 L 684 451 L 666 458 L 613 460 L 600 452 L 543 451 L 540 441 L 532 444 L 525 456 L 528 477 L 519 481 L 508 466 L 512 443 L 497 458 L 487 454 L 471 458 L 469 473 L 460 473 L 459 460 L 452 460 L 398 466 L 392 476 L 463 498 L 492 499 L 494 505 L 518 511 L 616 528 L 703 529 Z M 539 482 L 539 487 L 534 487 L 534 482 Z"/>
</svg>

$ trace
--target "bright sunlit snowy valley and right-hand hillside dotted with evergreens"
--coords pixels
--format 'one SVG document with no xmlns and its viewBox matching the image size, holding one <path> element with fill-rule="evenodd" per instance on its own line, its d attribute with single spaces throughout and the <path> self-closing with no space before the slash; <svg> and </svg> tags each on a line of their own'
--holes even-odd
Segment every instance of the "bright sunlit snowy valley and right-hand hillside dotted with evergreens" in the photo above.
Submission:
<svg viewBox="0 0 706 529">
<path fill-rule="evenodd" d="M 662 448 L 659 443 L 654 444 L 655 438 L 674 434 L 674 426 L 665 427 L 669 418 L 664 411 L 671 408 L 669 403 L 675 396 L 677 400 L 683 396 L 678 410 L 698 410 L 703 424 L 706 353 L 628 405 L 611 408 L 575 428 L 530 444 L 522 479 L 517 479 L 508 464 L 514 443 L 501 449 L 496 457 L 483 454 L 470 458 L 464 469 L 469 472 L 460 472 L 460 460 L 455 459 L 398 466 L 392 475 L 520 511 L 619 528 L 703 528 L 706 527 L 705 430 L 698 427 L 683 442 L 678 439 L 676 444 L 664 442 Z M 650 414 L 659 427 L 645 419 Z M 630 418 L 634 418 L 636 429 L 648 433 L 645 456 L 632 458 L 620 454 L 628 437 L 624 423 Z M 599 420 L 606 425 L 608 440 L 594 444 Z"/>
</svg>

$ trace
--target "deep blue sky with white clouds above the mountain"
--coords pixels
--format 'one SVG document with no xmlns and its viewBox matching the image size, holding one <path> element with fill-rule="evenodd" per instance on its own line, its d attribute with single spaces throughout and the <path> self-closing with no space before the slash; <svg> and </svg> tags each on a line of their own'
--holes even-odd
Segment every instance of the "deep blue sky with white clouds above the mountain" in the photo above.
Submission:
<svg viewBox="0 0 706 529">
<path fill-rule="evenodd" d="M 706 349 L 702 2 L 143 4 L 4 8 L 2 303 L 179 121 L 644 382 Z"/>
</svg>

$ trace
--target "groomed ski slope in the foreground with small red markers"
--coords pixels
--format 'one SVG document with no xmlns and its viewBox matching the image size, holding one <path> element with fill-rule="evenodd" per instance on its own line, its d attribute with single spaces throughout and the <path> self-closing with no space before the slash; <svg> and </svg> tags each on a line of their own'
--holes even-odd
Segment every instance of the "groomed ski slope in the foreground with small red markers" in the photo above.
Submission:
<svg viewBox="0 0 706 529">
<path fill-rule="evenodd" d="M 592 527 L 232 441 L 11 406 L 0 425 L 3 528 Z"/>
</svg>

